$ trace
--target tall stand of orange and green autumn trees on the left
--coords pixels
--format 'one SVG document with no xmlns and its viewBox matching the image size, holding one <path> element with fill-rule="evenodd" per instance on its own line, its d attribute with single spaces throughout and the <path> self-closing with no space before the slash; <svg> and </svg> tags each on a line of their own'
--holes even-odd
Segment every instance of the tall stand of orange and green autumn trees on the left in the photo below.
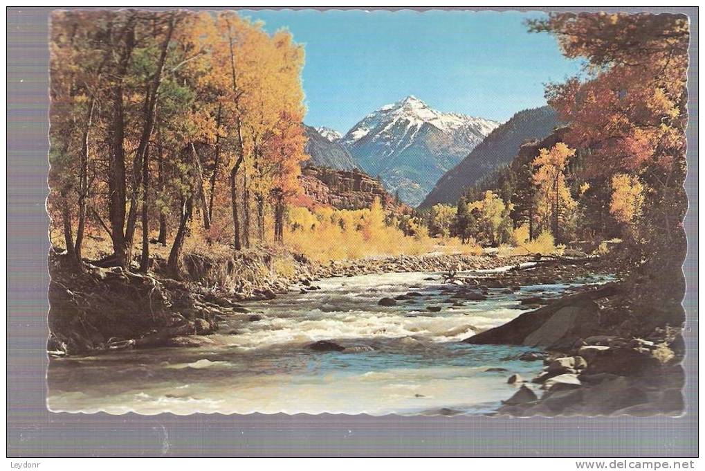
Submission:
<svg viewBox="0 0 705 471">
<path fill-rule="evenodd" d="M 126 267 L 141 234 L 140 268 L 156 238 L 178 275 L 192 232 L 240 249 L 272 214 L 281 238 L 307 158 L 304 53 L 262 26 L 230 11 L 54 13 L 49 210 L 71 257 L 106 234 L 97 263 Z"/>
</svg>

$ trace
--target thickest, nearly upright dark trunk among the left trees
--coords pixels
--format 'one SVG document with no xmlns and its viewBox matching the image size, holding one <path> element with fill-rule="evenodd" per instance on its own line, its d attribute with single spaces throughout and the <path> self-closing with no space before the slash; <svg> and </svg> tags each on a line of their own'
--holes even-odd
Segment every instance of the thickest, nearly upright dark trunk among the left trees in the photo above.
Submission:
<svg viewBox="0 0 705 471">
<path fill-rule="evenodd" d="M 125 181 L 125 123 L 123 109 L 123 78 L 127 73 L 130 56 L 135 47 L 135 16 L 128 18 L 126 25 L 125 48 L 121 54 L 113 88 L 113 121 L 111 123 L 111 155 L 109 162 L 108 193 L 111 238 L 115 263 L 126 268 L 129 263 L 128 244 L 125 241 L 125 203 L 127 188 Z"/>
</svg>

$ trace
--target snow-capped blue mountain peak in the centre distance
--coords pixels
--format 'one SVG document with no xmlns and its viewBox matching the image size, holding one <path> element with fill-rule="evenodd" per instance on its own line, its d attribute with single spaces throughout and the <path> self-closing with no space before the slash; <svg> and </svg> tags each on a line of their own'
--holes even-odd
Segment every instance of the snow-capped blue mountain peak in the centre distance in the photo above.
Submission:
<svg viewBox="0 0 705 471">
<path fill-rule="evenodd" d="M 364 117 L 341 139 L 362 169 L 379 175 L 407 203 L 421 203 L 436 181 L 500 123 L 431 109 L 408 96 Z"/>
</svg>

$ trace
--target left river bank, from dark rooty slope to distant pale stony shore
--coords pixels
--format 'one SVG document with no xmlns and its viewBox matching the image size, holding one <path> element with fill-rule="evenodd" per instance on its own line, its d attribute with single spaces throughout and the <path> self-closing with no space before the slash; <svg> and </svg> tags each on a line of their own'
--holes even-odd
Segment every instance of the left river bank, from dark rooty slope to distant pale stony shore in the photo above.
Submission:
<svg viewBox="0 0 705 471">
<path fill-rule="evenodd" d="M 88 354 L 125 348 L 195 345 L 223 318 L 248 314 L 243 302 L 310 292 L 326 278 L 371 273 L 481 270 L 527 257 L 427 254 L 316 263 L 291 254 L 250 251 L 186 254 L 181 280 L 164 276 L 163 263 L 143 275 L 49 255 L 49 354 Z M 284 269 L 281 269 L 284 266 Z"/>
</svg>

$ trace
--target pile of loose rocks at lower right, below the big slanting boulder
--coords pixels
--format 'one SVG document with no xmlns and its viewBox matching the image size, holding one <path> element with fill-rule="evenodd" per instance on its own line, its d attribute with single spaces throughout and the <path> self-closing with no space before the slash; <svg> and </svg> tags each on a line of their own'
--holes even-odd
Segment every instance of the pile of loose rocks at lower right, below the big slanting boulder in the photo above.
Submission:
<svg viewBox="0 0 705 471">
<path fill-rule="evenodd" d="M 531 385 L 520 386 L 498 410 L 533 415 L 678 415 L 684 374 L 677 354 L 658 340 L 587 338 L 570 356 L 554 352 Z M 540 396 L 537 395 L 537 388 Z"/>
</svg>

